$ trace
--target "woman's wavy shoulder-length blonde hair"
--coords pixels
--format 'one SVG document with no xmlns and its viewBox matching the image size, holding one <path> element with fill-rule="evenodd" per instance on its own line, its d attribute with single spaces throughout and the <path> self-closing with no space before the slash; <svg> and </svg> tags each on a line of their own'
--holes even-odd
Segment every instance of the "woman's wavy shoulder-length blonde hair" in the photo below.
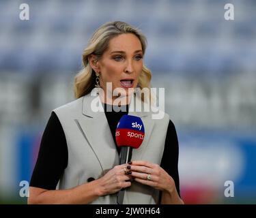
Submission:
<svg viewBox="0 0 256 218">
<path fill-rule="evenodd" d="M 85 50 L 83 50 L 83 69 L 76 74 L 74 78 L 74 95 L 77 98 L 87 95 L 95 87 L 96 73 L 94 69 L 91 68 L 89 64 L 88 57 L 91 54 L 96 55 L 97 59 L 102 57 L 104 51 L 109 46 L 109 41 L 113 37 L 120 35 L 122 33 L 132 33 L 136 35 L 141 41 L 141 47 L 143 50 L 143 55 L 145 54 L 145 49 L 147 46 L 146 37 L 139 31 L 139 29 L 128 25 L 126 22 L 114 21 L 106 22 L 104 25 L 99 27 L 95 33 L 92 35 L 91 40 Z M 139 89 L 148 88 L 150 89 L 152 74 L 150 69 L 143 64 L 142 72 L 139 76 L 138 87 Z M 148 97 L 151 97 L 151 92 Z M 145 96 L 141 95 L 142 101 L 145 100 Z"/>
</svg>

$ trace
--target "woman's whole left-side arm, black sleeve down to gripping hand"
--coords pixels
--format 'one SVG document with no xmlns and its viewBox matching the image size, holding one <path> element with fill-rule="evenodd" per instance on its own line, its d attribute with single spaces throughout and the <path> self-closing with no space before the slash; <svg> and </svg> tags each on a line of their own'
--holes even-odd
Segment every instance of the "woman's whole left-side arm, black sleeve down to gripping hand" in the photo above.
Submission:
<svg viewBox="0 0 256 218">
<path fill-rule="evenodd" d="M 55 190 L 63 170 L 68 165 L 66 136 L 57 115 L 49 119 L 38 159 L 33 170 L 29 187 L 29 204 L 87 204 L 123 187 L 130 186 L 129 176 L 124 174 L 127 165 L 115 166 L 104 176 L 90 183 L 72 189 Z"/>
</svg>

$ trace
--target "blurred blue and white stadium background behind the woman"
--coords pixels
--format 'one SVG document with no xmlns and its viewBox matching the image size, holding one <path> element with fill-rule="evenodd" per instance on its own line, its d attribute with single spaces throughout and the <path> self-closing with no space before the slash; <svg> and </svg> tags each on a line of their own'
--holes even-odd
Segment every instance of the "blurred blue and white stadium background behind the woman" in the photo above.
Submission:
<svg viewBox="0 0 256 218">
<path fill-rule="evenodd" d="M 30 20 L 19 19 L 29 4 Z M 224 19 L 233 3 L 235 20 Z M 153 87 L 180 141 L 188 204 L 256 203 L 256 1 L 0 1 L 0 202 L 25 204 L 51 110 L 74 99 L 91 34 L 123 20 L 147 36 Z M 233 181 L 233 198 L 224 195 Z"/>
</svg>

